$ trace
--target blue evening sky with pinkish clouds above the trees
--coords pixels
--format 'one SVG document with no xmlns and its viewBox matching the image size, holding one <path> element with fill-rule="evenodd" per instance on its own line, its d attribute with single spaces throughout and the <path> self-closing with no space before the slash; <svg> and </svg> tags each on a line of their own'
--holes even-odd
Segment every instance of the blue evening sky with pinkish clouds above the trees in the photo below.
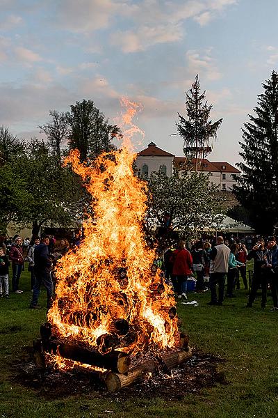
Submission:
<svg viewBox="0 0 278 418">
<path fill-rule="evenodd" d="M 277 71 L 277 0 L 0 0 L 0 125 L 42 137 L 49 110 L 91 99 L 114 120 L 120 98 L 136 124 L 177 156 L 175 123 L 199 75 L 211 119 L 223 118 L 211 161 L 235 164 L 243 123 Z"/>
</svg>

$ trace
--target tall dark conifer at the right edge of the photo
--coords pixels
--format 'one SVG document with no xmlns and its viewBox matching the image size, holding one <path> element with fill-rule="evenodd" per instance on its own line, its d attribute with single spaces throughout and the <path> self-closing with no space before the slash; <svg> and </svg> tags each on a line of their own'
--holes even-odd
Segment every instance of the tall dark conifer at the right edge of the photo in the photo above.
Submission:
<svg viewBox="0 0 278 418">
<path fill-rule="evenodd" d="M 238 163 L 242 175 L 234 191 L 238 201 L 250 212 L 258 233 L 273 233 L 278 222 L 278 75 L 273 71 L 262 84 L 254 115 L 244 124 L 240 142 L 244 162 Z"/>
</svg>

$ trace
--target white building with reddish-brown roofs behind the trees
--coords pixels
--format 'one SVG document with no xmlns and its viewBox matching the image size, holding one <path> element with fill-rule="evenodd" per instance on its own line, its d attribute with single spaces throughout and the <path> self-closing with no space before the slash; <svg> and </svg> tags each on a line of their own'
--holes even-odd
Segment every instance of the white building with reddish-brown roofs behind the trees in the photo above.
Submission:
<svg viewBox="0 0 278 418">
<path fill-rule="evenodd" d="M 139 176 L 150 176 L 152 171 L 164 171 L 167 176 L 172 176 L 173 168 L 176 167 L 181 173 L 188 171 L 188 165 L 195 169 L 196 160 L 188 164 L 186 157 L 175 157 L 173 154 L 158 148 L 151 142 L 145 150 L 138 153 L 136 168 Z M 209 173 L 211 183 L 218 185 L 220 190 L 231 191 L 236 184 L 234 176 L 239 176 L 240 171 L 229 162 L 211 162 L 204 158 L 198 160 L 197 171 Z"/>
</svg>

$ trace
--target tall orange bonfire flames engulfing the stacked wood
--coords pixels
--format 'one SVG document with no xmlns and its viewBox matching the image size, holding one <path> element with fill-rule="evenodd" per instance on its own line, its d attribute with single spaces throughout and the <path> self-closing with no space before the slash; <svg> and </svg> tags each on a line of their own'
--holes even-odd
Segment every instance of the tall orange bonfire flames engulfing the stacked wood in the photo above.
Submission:
<svg viewBox="0 0 278 418">
<path fill-rule="evenodd" d="M 142 233 L 146 185 L 133 175 L 136 154 L 126 141 L 138 132 L 131 123 L 135 109 L 131 104 L 124 116 L 129 126 L 121 150 L 101 155 L 94 167 L 81 164 L 76 150 L 65 161 L 92 194 L 95 216 L 83 224 L 81 246 L 58 263 L 48 320 L 59 336 L 104 354 L 113 348 L 136 354 L 178 344 L 174 295 Z"/>
</svg>

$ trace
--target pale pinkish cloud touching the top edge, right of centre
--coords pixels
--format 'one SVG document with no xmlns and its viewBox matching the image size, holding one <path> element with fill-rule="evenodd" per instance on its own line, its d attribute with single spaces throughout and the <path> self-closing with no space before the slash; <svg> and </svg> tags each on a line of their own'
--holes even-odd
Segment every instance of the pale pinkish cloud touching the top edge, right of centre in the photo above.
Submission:
<svg viewBox="0 0 278 418">
<path fill-rule="evenodd" d="M 133 28 L 111 35 L 112 45 L 124 53 L 145 51 L 153 45 L 183 39 L 186 20 L 193 18 L 200 26 L 210 22 L 217 13 L 236 0 L 165 1 L 144 0 L 129 5 L 124 15 L 133 21 Z M 167 23 L 166 23 L 167 22 Z"/>
</svg>

